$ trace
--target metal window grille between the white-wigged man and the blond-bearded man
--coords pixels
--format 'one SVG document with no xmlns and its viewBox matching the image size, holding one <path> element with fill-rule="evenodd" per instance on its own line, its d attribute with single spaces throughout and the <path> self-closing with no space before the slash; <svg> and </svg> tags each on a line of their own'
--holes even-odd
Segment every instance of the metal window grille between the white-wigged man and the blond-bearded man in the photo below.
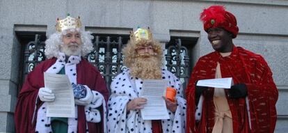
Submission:
<svg viewBox="0 0 288 133">
<path fill-rule="evenodd" d="M 100 36 L 94 35 L 93 52 L 88 54 L 87 60 L 98 68 L 110 88 L 111 81 L 118 73 L 126 69 L 122 61 L 122 47 L 129 36 Z"/>
</svg>

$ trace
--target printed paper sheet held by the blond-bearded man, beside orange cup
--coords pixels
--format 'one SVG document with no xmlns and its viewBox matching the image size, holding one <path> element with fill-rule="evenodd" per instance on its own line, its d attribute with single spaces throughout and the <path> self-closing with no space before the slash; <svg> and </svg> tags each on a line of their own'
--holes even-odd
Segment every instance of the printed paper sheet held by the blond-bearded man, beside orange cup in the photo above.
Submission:
<svg viewBox="0 0 288 133">
<path fill-rule="evenodd" d="M 143 81 L 140 97 L 147 98 L 147 104 L 141 109 L 143 120 L 169 119 L 166 102 L 163 95 L 166 93 L 168 81 L 161 79 L 149 79 Z"/>
</svg>

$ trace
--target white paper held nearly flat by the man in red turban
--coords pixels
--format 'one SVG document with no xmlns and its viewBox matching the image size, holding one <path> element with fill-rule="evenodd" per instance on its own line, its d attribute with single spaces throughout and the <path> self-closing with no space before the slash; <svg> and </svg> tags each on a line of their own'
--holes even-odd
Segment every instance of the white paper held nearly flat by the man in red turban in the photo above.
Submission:
<svg viewBox="0 0 288 133">
<path fill-rule="evenodd" d="M 231 88 L 232 85 L 232 77 L 221 79 L 203 79 L 197 82 L 197 86 L 207 86 L 214 88 Z"/>
</svg>

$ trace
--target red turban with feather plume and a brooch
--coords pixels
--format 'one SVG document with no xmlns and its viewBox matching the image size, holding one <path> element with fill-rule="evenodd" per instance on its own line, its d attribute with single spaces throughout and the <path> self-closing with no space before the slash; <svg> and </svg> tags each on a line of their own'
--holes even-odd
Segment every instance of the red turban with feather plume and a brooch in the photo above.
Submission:
<svg viewBox="0 0 288 133">
<path fill-rule="evenodd" d="M 223 6 L 210 6 L 204 9 L 200 14 L 200 19 L 206 32 L 210 28 L 223 28 L 233 34 L 232 38 L 236 38 L 238 34 L 236 17 L 227 12 Z"/>
</svg>

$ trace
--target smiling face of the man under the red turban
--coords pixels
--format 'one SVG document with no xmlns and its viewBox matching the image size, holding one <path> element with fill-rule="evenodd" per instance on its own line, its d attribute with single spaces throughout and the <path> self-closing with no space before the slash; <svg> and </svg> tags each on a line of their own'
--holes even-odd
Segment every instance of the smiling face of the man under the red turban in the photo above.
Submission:
<svg viewBox="0 0 288 133">
<path fill-rule="evenodd" d="M 208 29 L 208 40 L 216 52 L 232 52 L 233 42 L 232 33 L 222 28 Z"/>
</svg>

